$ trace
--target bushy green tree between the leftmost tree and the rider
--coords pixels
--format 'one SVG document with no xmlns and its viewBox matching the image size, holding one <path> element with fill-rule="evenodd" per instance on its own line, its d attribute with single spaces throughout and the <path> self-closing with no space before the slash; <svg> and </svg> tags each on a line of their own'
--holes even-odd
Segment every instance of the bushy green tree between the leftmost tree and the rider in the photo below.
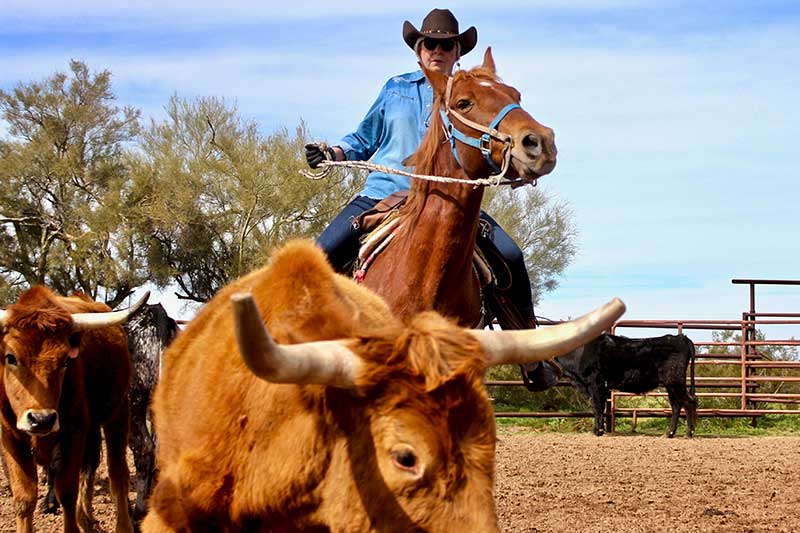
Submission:
<svg viewBox="0 0 800 533">
<path fill-rule="evenodd" d="M 225 99 L 173 96 L 142 135 L 134 196 L 154 280 L 203 302 L 291 237 L 314 237 L 361 187 L 359 175 L 308 180 L 305 125 L 262 135 Z"/>
</svg>

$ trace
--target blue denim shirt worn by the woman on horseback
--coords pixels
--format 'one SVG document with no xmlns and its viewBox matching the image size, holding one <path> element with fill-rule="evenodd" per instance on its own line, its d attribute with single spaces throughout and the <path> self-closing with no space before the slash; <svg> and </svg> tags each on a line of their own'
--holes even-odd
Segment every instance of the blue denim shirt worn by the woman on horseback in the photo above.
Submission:
<svg viewBox="0 0 800 533">
<path fill-rule="evenodd" d="M 403 167 L 430 125 L 433 90 L 421 70 L 395 76 L 386 82 L 378 99 L 367 111 L 358 129 L 345 136 L 339 146 L 352 161 L 367 161 L 392 168 Z M 409 188 L 409 178 L 371 172 L 362 196 L 383 199 Z"/>
</svg>

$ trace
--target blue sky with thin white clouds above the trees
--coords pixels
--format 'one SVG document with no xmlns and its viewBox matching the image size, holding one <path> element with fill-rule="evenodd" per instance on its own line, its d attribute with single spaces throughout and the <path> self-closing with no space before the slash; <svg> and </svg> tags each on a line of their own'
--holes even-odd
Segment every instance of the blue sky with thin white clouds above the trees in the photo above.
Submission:
<svg viewBox="0 0 800 533">
<path fill-rule="evenodd" d="M 402 22 L 419 27 L 436 7 L 224 4 L 5 0 L 0 88 L 80 59 L 109 69 L 120 104 L 147 118 L 162 117 L 174 93 L 224 96 L 265 133 L 302 119 L 335 140 L 387 78 L 416 67 Z M 620 296 L 628 318 L 735 319 L 749 300 L 732 278 L 800 278 L 800 3 L 451 8 L 462 28 L 478 28 L 462 66 L 491 45 L 500 75 L 556 132 L 558 166 L 540 187 L 574 210 L 580 251 L 542 315 L 576 316 Z M 800 312 L 800 287 L 761 287 L 757 308 Z"/>
</svg>

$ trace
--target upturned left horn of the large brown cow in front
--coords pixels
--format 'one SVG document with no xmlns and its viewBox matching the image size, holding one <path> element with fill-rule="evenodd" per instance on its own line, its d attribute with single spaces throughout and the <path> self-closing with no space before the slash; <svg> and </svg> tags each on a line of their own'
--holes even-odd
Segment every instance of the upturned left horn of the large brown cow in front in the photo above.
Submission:
<svg viewBox="0 0 800 533">
<path fill-rule="evenodd" d="M 361 359 L 341 341 L 275 343 L 249 293 L 231 296 L 239 353 L 259 378 L 275 383 L 352 388 Z"/>
</svg>

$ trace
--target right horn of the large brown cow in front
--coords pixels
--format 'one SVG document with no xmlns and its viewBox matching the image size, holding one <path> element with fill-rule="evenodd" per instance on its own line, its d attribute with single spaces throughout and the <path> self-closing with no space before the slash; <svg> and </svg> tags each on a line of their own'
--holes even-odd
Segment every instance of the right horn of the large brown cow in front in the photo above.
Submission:
<svg viewBox="0 0 800 533">
<path fill-rule="evenodd" d="M 614 298 L 602 307 L 570 322 L 541 329 L 470 330 L 489 356 L 489 366 L 534 363 L 569 353 L 609 329 L 625 312 Z"/>
</svg>

